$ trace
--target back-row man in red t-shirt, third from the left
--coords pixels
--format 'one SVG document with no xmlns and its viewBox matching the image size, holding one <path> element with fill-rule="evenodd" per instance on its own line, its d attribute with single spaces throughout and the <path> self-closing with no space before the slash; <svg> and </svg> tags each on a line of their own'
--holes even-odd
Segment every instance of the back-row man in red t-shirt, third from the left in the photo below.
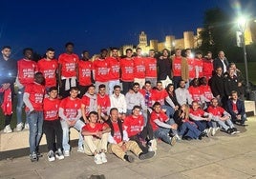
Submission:
<svg viewBox="0 0 256 179">
<path fill-rule="evenodd" d="M 54 59 L 55 50 L 49 48 L 46 50 L 46 57 L 37 62 L 38 71 L 42 72 L 45 78 L 46 90 L 56 87 L 57 61 Z"/>
</svg>

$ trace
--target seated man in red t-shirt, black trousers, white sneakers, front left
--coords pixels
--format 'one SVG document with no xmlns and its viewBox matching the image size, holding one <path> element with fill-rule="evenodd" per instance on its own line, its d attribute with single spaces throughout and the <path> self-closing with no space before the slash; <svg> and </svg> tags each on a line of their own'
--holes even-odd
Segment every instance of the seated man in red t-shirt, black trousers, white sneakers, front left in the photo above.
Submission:
<svg viewBox="0 0 256 179">
<path fill-rule="evenodd" d="M 43 130 L 46 136 L 47 148 L 48 148 L 48 160 L 54 161 L 55 158 L 61 160 L 64 159 L 62 153 L 62 128 L 58 117 L 58 109 L 60 100 L 57 99 L 57 88 L 51 87 L 48 92 L 48 96 L 44 99 L 44 123 Z M 56 151 L 53 152 L 54 143 L 56 142 Z"/>
</svg>

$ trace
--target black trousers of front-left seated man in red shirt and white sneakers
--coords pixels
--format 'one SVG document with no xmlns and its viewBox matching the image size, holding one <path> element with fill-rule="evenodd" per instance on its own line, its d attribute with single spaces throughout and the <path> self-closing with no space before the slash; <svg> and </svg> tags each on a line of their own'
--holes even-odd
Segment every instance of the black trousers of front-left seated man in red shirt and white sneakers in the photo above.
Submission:
<svg viewBox="0 0 256 179">
<path fill-rule="evenodd" d="M 48 150 L 62 149 L 62 137 L 63 132 L 60 124 L 60 120 L 47 121 L 44 120 L 43 130 L 46 136 Z"/>
</svg>

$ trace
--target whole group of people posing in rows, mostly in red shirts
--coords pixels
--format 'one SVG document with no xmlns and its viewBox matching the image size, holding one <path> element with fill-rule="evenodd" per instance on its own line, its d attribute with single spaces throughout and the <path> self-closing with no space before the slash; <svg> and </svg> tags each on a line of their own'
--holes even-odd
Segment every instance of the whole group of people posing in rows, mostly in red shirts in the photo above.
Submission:
<svg viewBox="0 0 256 179">
<path fill-rule="evenodd" d="M 54 59 L 54 50 L 33 61 L 33 50 L 24 49 L 18 61 L 10 58 L 11 47 L 2 48 L 0 59 L 0 102 L 5 116 L 4 132 L 12 132 L 14 85 L 17 86 L 16 130 L 30 129 L 30 158 L 38 161 L 43 133 L 48 160 L 70 156 L 69 131 L 79 131 L 78 152 L 93 155 L 96 164 L 107 162 L 106 152 L 133 162 L 156 154 L 157 140 L 202 140 L 218 129 L 228 134 L 245 126 L 243 76 L 228 64 L 224 51 L 212 53 L 168 50 L 156 58 L 155 50 L 142 56 L 127 49 L 120 58 L 117 48 L 100 50 L 90 60 L 87 50 L 81 59 L 74 44 Z M 22 111 L 26 106 L 26 122 Z"/>
</svg>

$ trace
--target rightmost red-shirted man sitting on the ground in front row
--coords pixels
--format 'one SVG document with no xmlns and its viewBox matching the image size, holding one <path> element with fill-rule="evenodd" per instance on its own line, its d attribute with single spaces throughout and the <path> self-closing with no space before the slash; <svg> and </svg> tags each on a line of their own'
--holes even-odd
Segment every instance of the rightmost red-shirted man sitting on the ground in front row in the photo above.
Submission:
<svg viewBox="0 0 256 179">
<path fill-rule="evenodd" d="M 239 132 L 231 121 L 231 115 L 219 106 L 217 98 L 211 100 L 211 105 L 208 107 L 207 111 L 212 114 L 213 120 L 216 121 L 228 134 Z"/>
</svg>

